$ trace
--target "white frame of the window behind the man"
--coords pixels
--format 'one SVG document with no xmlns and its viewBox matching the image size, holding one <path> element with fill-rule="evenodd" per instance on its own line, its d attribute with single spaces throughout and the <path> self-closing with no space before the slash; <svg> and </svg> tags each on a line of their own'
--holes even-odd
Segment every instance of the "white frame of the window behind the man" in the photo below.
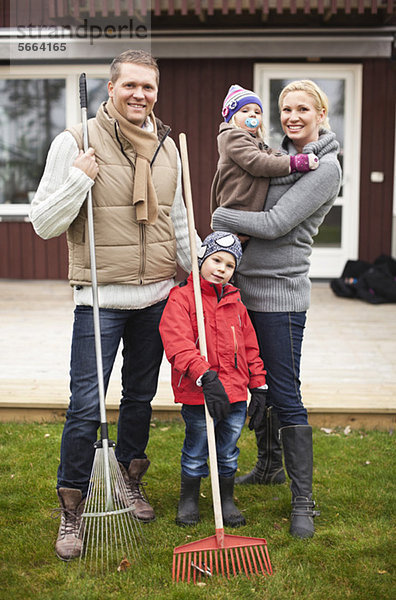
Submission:
<svg viewBox="0 0 396 600">
<path fill-rule="evenodd" d="M 65 109 L 66 127 L 81 121 L 79 100 L 79 76 L 86 73 L 87 77 L 109 77 L 109 64 L 95 65 L 12 65 L 0 66 L 0 79 L 64 79 L 66 84 Z M 30 204 L 0 204 L 0 220 L 2 217 L 18 220 L 29 220 Z"/>
</svg>

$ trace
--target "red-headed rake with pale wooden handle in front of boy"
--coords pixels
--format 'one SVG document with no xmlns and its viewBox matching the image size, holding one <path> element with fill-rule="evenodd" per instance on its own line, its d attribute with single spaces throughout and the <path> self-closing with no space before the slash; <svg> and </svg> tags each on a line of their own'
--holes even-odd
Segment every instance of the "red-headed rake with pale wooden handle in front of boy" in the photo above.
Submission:
<svg viewBox="0 0 396 600">
<path fill-rule="evenodd" d="M 201 287 L 195 241 L 194 211 L 191 194 L 190 169 L 188 164 L 186 135 L 179 136 L 180 153 L 183 165 L 184 195 L 186 200 L 188 230 L 194 298 L 197 313 L 199 349 L 202 356 L 207 356 L 205 325 L 203 318 Z M 249 575 L 272 575 L 271 561 L 268 555 L 267 542 L 264 538 L 252 538 L 224 533 L 223 515 L 221 511 L 219 475 L 217 471 L 216 440 L 213 419 L 205 404 L 206 429 L 210 461 L 210 478 L 212 484 L 213 509 L 216 534 L 203 540 L 178 546 L 173 551 L 173 581 L 196 583 L 212 575 L 230 577 L 239 573 Z"/>
</svg>

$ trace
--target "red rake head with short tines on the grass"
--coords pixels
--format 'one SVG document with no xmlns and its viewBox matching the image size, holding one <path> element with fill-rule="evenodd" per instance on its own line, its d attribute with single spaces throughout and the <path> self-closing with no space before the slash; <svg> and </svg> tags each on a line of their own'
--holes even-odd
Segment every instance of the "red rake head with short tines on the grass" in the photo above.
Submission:
<svg viewBox="0 0 396 600">
<path fill-rule="evenodd" d="M 239 574 L 272 575 L 267 542 L 225 534 L 223 542 L 214 535 L 178 546 L 173 551 L 173 581 L 197 583 L 212 575 L 227 577 Z"/>
</svg>

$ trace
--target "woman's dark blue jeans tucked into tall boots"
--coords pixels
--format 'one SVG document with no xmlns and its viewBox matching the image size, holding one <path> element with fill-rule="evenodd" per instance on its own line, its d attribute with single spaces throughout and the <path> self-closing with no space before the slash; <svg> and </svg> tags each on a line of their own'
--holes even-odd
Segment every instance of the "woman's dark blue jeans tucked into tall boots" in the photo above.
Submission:
<svg viewBox="0 0 396 600">
<path fill-rule="evenodd" d="M 300 390 L 306 313 L 249 311 L 249 315 L 267 370 L 268 402 L 278 414 L 280 427 L 307 425 L 307 411 Z"/>
</svg>

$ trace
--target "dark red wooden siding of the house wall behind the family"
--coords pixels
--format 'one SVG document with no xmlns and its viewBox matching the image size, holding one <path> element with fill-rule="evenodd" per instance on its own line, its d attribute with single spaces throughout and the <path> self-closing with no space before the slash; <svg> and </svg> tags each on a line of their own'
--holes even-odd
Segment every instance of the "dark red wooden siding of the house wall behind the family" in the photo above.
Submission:
<svg viewBox="0 0 396 600">
<path fill-rule="evenodd" d="M 172 137 L 185 132 L 198 232 L 209 231 L 209 192 L 217 162 L 216 135 L 220 107 L 231 83 L 253 86 L 253 59 L 159 61 L 161 84 L 156 114 L 172 127 Z M 395 131 L 395 65 L 363 60 L 362 151 L 359 258 L 390 254 Z M 357 157 L 358 159 L 358 157 Z M 384 171 L 384 183 L 371 183 L 372 171 Z M 64 236 L 44 241 L 30 223 L 0 223 L 0 278 L 66 279 Z"/>
</svg>

